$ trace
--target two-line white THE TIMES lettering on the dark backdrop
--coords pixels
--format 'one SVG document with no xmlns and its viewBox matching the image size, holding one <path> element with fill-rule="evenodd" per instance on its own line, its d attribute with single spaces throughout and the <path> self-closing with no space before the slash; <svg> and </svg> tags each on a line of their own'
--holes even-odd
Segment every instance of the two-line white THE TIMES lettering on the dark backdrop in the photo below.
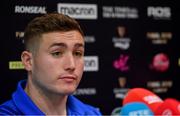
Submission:
<svg viewBox="0 0 180 116">
<path fill-rule="evenodd" d="M 104 18 L 137 19 L 139 17 L 138 10 L 134 7 L 103 6 L 102 10 Z"/>
</svg>

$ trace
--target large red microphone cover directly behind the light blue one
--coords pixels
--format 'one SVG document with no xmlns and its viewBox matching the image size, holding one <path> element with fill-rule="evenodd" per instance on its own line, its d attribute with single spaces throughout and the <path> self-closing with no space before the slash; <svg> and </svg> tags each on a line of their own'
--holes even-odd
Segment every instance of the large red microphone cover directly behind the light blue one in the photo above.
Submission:
<svg viewBox="0 0 180 116">
<path fill-rule="evenodd" d="M 154 112 L 163 103 L 163 100 L 147 89 L 133 88 L 127 92 L 122 102 L 123 105 L 131 102 L 142 102 Z"/>
</svg>

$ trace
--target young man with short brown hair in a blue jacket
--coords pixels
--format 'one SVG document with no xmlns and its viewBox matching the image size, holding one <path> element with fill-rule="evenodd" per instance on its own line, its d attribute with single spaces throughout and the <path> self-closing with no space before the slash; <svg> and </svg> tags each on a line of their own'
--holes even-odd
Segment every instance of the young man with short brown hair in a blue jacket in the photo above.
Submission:
<svg viewBox="0 0 180 116">
<path fill-rule="evenodd" d="M 0 115 L 101 115 L 72 94 L 83 74 L 84 35 L 74 19 L 51 13 L 25 29 L 22 63 L 28 79 L 18 83 Z"/>
</svg>

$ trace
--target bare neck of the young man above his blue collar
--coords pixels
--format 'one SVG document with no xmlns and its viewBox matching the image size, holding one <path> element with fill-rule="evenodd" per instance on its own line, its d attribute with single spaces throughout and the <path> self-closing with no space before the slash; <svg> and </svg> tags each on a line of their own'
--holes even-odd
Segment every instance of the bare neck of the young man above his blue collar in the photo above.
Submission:
<svg viewBox="0 0 180 116">
<path fill-rule="evenodd" d="M 45 93 L 40 88 L 32 86 L 31 82 L 26 84 L 25 92 L 46 115 L 67 115 L 67 96 Z"/>
</svg>

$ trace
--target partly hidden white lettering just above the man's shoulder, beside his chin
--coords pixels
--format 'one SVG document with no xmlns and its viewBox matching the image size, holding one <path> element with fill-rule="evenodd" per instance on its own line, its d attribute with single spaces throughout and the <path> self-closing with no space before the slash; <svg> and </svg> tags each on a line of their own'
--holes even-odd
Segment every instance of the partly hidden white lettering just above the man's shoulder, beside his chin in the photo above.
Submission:
<svg viewBox="0 0 180 116">
<path fill-rule="evenodd" d="M 95 95 L 95 88 L 79 88 L 74 93 L 74 95 Z"/>
</svg>

